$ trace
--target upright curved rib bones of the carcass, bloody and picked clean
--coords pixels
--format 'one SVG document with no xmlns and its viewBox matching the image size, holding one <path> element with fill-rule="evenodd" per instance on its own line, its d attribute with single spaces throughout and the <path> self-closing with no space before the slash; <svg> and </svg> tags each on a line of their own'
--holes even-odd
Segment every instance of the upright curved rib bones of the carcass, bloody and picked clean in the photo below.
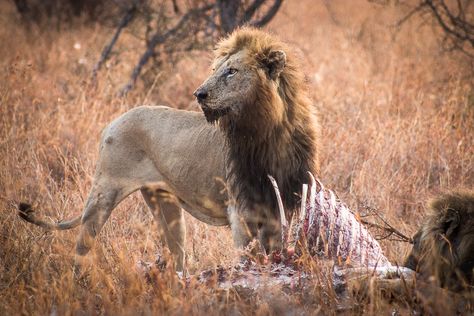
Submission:
<svg viewBox="0 0 474 316">
<path fill-rule="evenodd" d="M 312 175 L 310 175 L 312 181 L 310 200 L 307 201 L 308 186 L 304 184 L 301 210 L 299 215 L 293 213 L 288 229 L 278 184 L 273 177 L 270 175 L 268 177 L 277 196 L 282 222 L 282 244 L 286 247 L 284 250 L 286 249 L 287 253 L 294 253 L 301 227 L 304 227 L 307 247 L 312 255 L 333 259 L 339 265 L 391 266 L 378 241 L 370 235 L 356 215 L 332 190 L 326 189 Z M 316 183 L 319 184 L 319 192 Z"/>
</svg>

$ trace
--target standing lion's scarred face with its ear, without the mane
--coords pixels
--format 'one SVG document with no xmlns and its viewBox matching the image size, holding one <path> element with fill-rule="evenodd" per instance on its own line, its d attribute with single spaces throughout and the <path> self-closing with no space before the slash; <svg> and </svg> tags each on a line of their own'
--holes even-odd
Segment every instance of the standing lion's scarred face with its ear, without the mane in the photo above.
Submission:
<svg viewBox="0 0 474 316">
<path fill-rule="evenodd" d="M 270 54 L 273 60 L 256 61 L 243 49 L 214 61 L 213 74 L 194 92 L 208 122 L 225 115 L 238 120 L 242 113 L 258 110 L 252 108 L 261 103 L 257 98 L 276 81 L 285 65 L 282 51 Z"/>
</svg>

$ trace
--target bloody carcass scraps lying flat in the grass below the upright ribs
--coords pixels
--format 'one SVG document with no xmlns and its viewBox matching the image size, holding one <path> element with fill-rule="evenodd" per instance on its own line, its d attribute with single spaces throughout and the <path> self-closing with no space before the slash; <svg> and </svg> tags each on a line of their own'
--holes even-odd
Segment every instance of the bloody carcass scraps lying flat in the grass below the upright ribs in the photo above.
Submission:
<svg viewBox="0 0 474 316">
<path fill-rule="evenodd" d="M 167 269 L 166 262 L 162 258 L 155 263 L 139 261 L 137 268 L 143 273 L 148 281 L 152 280 L 153 271 L 164 271 Z M 218 266 L 207 269 L 192 276 L 184 277 L 178 274 L 187 286 L 193 282 L 205 284 L 211 288 L 224 290 L 236 290 L 239 294 L 250 297 L 258 295 L 266 289 L 289 290 L 291 293 L 314 289 L 315 286 L 329 290 L 332 287 L 335 294 L 340 298 L 350 295 L 348 292 L 354 286 L 359 289 L 368 289 L 373 281 L 381 284 L 386 290 L 401 292 L 404 288 L 413 287 L 415 284 L 415 271 L 404 267 L 379 267 L 379 268 L 348 268 L 339 269 L 334 267 L 332 272 L 332 284 L 321 283 L 316 275 L 308 271 L 301 271 L 297 266 L 288 263 L 272 263 L 260 265 L 252 261 L 238 264 L 233 267 Z M 401 290 L 400 290 L 401 289 Z M 343 307 L 343 306 L 341 306 Z"/>
</svg>

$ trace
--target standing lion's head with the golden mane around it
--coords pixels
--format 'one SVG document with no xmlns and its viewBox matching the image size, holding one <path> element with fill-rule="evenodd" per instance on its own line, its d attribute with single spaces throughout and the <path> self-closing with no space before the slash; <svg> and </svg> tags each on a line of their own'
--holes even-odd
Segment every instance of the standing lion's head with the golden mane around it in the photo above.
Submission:
<svg viewBox="0 0 474 316">
<path fill-rule="evenodd" d="M 213 73 L 194 95 L 209 122 L 227 117 L 224 124 L 248 129 L 250 122 L 280 124 L 292 103 L 308 103 L 299 100 L 305 84 L 295 63 L 294 53 L 280 40 L 241 28 L 218 43 Z"/>
</svg>

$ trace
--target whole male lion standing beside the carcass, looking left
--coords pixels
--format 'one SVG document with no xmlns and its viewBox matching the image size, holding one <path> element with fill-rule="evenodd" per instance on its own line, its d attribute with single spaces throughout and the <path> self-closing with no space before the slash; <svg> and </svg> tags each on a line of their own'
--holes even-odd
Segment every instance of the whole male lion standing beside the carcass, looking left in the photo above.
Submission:
<svg viewBox="0 0 474 316">
<path fill-rule="evenodd" d="M 82 216 L 51 224 L 23 204 L 22 217 L 46 229 L 82 223 L 80 259 L 117 204 L 141 190 L 164 226 L 178 270 L 184 263 L 182 208 L 208 224 L 230 224 L 238 247 L 253 238 L 266 250 L 278 246 L 279 213 L 267 175 L 277 180 L 291 211 L 307 172 L 318 173 L 318 123 L 296 57 L 269 34 L 242 28 L 217 45 L 213 74 L 194 95 L 204 115 L 141 106 L 105 128 Z"/>
</svg>

